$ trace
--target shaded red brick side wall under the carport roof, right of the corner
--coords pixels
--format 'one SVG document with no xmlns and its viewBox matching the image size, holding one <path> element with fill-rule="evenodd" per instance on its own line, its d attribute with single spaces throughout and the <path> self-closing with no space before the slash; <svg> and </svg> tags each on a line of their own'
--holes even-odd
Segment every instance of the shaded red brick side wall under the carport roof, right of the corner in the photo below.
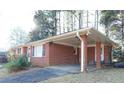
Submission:
<svg viewBox="0 0 124 93">
<path fill-rule="evenodd" d="M 74 55 L 74 48 L 55 43 L 49 44 L 49 64 L 78 64 L 78 55 Z"/>
</svg>

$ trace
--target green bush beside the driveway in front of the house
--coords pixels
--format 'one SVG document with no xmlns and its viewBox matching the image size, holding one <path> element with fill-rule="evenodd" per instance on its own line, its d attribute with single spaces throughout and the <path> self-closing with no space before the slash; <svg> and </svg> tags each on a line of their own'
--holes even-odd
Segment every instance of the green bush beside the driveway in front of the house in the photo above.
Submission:
<svg viewBox="0 0 124 93">
<path fill-rule="evenodd" d="M 17 59 L 13 59 L 4 65 L 4 67 L 6 67 L 9 72 L 16 72 L 19 70 L 23 70 L 29 66 L 30 66 L 30 62 L 28 62 L 28 57 L 23 55 L 20 55 Z"/>
</svg>

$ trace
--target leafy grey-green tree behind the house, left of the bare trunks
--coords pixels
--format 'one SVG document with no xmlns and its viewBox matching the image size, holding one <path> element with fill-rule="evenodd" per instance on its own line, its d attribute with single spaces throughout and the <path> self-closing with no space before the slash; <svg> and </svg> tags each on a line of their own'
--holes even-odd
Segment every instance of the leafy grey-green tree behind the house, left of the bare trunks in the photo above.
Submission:
<svg viewBox="0 0 124 93">
<path fill-rule="evenodd" d="M 57 33 L 57 10 L 38 10 L 34 15 L 36 28 L 30 33 L 30 41 L 44 39 Z"/>
</svg>

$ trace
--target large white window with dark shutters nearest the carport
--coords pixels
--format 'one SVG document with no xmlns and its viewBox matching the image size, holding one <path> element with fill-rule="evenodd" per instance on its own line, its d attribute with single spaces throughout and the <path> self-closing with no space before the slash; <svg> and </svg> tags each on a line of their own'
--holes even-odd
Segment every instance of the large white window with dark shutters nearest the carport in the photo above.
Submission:
<svg viewBox="0 0 124 93">
<path fill-rule="evenodd" d="M 32 56 L 34 57 L 42 57 L 45 56 L 45 49 L 42 45 L 33 46 L 32 48 Z"/>
</svg>

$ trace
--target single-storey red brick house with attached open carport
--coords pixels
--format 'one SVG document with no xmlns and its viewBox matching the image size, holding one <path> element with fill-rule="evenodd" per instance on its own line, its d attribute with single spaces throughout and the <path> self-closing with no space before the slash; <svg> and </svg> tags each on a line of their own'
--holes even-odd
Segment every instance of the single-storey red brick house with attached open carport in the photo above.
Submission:
<svg viewBox="0 0 124 93">
<path fill-rule="evenodd" d="M 112 60 L 112 40 L 101 32 L 86 28 L 30 42 L 15 48 L 15 54 L 26 54 L 33 66 L 80 64 L 86 71 L 89 64 L 101 68 Z"/>
</svg>

